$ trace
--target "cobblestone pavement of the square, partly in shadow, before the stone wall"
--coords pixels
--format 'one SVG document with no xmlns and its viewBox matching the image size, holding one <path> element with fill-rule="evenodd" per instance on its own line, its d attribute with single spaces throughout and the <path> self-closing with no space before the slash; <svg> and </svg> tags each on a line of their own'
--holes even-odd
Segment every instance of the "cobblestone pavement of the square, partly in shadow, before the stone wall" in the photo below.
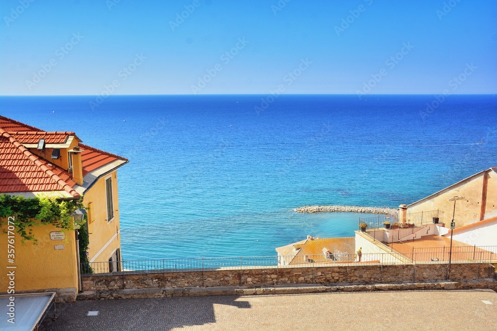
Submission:
<svg viewBox="0 0 497 331">
<path fill-rule="evenodd" d="M 483 302 L 490 301 L 493 304 Z M 98 316 L 87 316 L 98 311 Z M 40 330 L 497 330 L 490 290 L 205 296 L 58 304 Z"/>
</svg>

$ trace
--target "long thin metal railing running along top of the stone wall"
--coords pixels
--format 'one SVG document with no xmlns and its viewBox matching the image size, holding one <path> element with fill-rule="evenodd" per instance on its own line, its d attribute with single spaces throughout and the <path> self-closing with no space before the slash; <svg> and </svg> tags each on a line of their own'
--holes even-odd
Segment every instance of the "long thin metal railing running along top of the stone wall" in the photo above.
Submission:
<svg viewBox="0 0 497 331">
<path fill-rule="evenodd" d="M 386 247 L 386 246 L 385 246 Z M 496 246 L 453 247 L 452 263 L 496 262 Z M 326 267 L 354 265 L 447 264 L 448 248 L 410 249 L 390 253 L 362 253 L 331 255 L 259 256 L 226 258 L 190 258 L 163 260 L 134 260 L 118 262 L 82 263 L 83 275 L 133 274 L 155 272 L 203 272 L 211 270 L 244 270 L 288 267 Z"/>
</svg>

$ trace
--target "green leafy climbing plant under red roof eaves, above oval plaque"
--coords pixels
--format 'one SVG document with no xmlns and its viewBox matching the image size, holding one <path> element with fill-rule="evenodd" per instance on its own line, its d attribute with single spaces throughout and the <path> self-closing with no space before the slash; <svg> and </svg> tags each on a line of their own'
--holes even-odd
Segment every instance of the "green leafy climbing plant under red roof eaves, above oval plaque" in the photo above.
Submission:
<svg viewBox="0 0 497 331">
<path fill-rule="evenodd" d="M 62 231 L 74 230 L 81 224 L 75 224 L 72 214 L 82 205 L 83 199 L 65 200 L 55 196 L 24 198 L 0 194 L 0 225 L 6 223 L 9 216 L 14 216 L 15 231 L 25 240 L 36 243 L 33 228 L 42 224 L 52 224 Z"/>
</svg>

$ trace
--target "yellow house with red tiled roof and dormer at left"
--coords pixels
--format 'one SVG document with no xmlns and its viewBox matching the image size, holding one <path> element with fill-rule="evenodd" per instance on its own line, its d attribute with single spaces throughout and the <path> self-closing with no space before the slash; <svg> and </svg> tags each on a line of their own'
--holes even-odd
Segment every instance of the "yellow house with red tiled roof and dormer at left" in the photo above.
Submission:
<svg viewBox="0 0 497 331">
<path fill-rule="evenodd" d="M 129 161 L 82 144 L 74 132 L 45 132 L 0 116 L 0 194 L 25 198 L 56 195 L 82 199 L 87 221 L 87 257 L 100 268 L 120 268 L 117 169 Z M 83 207 L 82 206 L 82 207 Z M 1 220 L 0 268 L 15 266 L 15 292 L 57 291 L 58 301 L 73 301 L 80 290 L 75 230 L 33 227 L 37 243 L 15 234 L 15 260 L 7 257 L 8 224 Z M 12 264 L 12 265 L 10 265 Z M 9 280 L 0 277 L 0 293 Z"/>
</svg>

